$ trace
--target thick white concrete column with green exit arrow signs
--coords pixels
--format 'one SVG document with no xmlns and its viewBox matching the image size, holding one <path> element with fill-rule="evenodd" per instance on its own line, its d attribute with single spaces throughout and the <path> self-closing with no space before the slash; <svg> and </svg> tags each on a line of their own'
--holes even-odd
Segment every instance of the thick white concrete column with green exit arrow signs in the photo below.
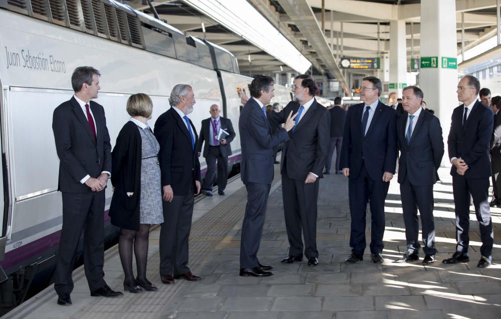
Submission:
<svg viewBox="0 0 501 319">
<path fill-rule="evenodd" d="M 427 107 L 435 111 L 442 125 L 445 142 L 442 164 L 446 166 L 450 166 L 447 154 L 450 116 L 459 102 L 456 94 L 457 68 L 443 67 L 442 57 L 457 56 L 455 12 L 455 0 L 421 0 L 421 61 L 425 57 L 437 57 L 437 64 L 431 65 L 436 67 L 420 68 L 419 84 Z"/>
</svg>

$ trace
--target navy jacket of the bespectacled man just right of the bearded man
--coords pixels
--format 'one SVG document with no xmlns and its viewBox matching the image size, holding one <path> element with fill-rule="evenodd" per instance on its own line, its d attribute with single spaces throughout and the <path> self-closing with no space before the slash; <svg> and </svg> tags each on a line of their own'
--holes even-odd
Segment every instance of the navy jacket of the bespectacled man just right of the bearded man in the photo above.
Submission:
<svg viewBox="0 0 501 319">
<path fill-rule="evenodd" d="M 397 159 L 397 112 L 378 102 L 371 124 L 362 135 L 365 103 L 351 106 L 346 114 L 340 167 L 350 168 L 349 178 L 357 178 L 362 160 L 373 180 L 381 180 L 385 171 L 394 173 Z"/>
</svg>

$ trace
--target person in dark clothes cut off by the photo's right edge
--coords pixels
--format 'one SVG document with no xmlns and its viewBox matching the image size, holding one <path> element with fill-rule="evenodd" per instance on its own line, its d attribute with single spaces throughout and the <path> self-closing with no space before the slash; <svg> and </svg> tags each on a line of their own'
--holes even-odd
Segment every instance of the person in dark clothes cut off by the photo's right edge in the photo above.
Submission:
<svg viewBox="0 0 501 319">
<path fill-rule="evenodd" d="M 492 167 L 492 200 L 490 206 L 501 204 L 501 96 L 492 97 L 494 111 L 494 129 L 490 138 L 490 164 Z M 485 105 L 485 104 L 484 104 Z"/>
</svg>

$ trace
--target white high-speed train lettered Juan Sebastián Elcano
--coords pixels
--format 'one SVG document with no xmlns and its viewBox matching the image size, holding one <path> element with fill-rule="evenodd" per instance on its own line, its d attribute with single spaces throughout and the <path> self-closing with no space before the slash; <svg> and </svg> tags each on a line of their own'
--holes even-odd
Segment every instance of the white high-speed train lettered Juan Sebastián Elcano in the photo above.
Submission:
<svg viewBox="0 0 501 319">
<path fill-rule="evenodd" d="M 238 132 L 237 90 L 247 91 L 252 78 L 239 74 L 227 50 L 185 37 L 113 0 L 0 0 L 0 51 L 0 307 L 5 311 L 22 302 L 33 283 L 48 284 L 54 270 L 62 201 L 52 113 L 72 96 L 75 67 L 92 65 L 102 73 L 96 101 L 105 107 L 112 144 L 129 118 L 125 104 L 131 93 L 151 96 L 153 125 L 170 107 L 177 83 L 193 87 L 196 104 L 189 117 L 197 131 L 215 103 Z M 285 105 L 290 99 L 290 90 L 276 85 L 273 101 Z M 232 149 L 230 166 L 240 159 L 238 134 Z M 106 210 L 111 195 L 108 187 Z M 105 227 L 110 242 L 117 229 L 106 213 Z"/>
</svg>

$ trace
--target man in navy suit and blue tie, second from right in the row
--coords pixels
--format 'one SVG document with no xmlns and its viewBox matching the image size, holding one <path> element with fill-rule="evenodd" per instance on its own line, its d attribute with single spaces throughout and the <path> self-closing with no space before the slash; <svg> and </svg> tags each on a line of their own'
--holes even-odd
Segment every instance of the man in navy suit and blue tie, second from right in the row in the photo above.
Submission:
<svg viewBox="0 0 501 319">
<path fill-rule="evenodd" d="M 407 113 L 397 117 L 400 158 L 398 182 L 405 223 L 407 250 L 397 262 L 419 260 L 419 220 L 421 215 L 424 253 L 422 263 L 435 261 L 435 223 L 433 221 L 433 184 L 438 179 L 444 152 L 440 120 L 421 107 L 423 91 L 417 86 L 403 89 L 403 107 Z"/>
</svg>

